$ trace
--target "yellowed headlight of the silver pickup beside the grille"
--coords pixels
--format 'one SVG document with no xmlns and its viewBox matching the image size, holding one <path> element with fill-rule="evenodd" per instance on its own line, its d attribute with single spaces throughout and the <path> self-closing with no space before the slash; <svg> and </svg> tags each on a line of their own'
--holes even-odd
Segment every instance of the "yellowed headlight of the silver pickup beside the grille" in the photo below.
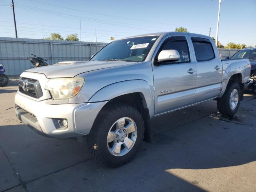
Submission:
<svg viewBox="0 0 256 192">
<path fill-rule="evenodd" d="M 50 79 L 45 89 L 51 92 L 54 99 L 69 99 L 78 94 L 84 82 L 83 77 Z"/>
</svg>

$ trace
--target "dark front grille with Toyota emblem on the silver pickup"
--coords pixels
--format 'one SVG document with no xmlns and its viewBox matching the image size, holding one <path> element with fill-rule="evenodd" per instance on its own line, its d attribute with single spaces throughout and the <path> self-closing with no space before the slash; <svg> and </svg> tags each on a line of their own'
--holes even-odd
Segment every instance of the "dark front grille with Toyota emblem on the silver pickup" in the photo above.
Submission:
<svg viewBox="0 0 256 192">
<path fill-rule="evenodd" d="M 19 91 L 33 98 L 40 98 L 43 92 L 38 80 L 20 77 Z"/>
</svg>

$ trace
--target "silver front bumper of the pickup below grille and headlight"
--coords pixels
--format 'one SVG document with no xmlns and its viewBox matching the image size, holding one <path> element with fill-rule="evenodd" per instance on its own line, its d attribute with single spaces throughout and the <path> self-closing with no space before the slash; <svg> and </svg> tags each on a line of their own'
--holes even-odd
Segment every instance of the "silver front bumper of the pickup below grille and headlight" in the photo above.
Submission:
<svg viewBox="0 0 256 192">
<path fill-rule="evenodd" d="M 94 120 L 107 103 L 46 104 L 30 99 L 20 92 L 15 95 L 15 112 L 19 120 L 41 135 L 52 138 L 70 138 L 89 134 Z M 59 121 L 68 120 L 63 129 Z"/>
</svg>

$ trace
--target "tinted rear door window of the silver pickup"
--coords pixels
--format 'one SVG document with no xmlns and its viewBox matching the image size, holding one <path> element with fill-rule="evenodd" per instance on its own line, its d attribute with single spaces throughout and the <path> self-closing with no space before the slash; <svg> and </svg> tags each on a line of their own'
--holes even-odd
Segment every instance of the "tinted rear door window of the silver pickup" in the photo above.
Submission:
<svg viewBox="0 0 256 192">
<path fill-rule="evenodd" d="M 198 42 L 192 41 L 192 42 L 193 42 L 197 61 L 210 60 L 215 57 L 212 44 L 210 42 L 199 42 L 199 41 Z"/>
</svg>

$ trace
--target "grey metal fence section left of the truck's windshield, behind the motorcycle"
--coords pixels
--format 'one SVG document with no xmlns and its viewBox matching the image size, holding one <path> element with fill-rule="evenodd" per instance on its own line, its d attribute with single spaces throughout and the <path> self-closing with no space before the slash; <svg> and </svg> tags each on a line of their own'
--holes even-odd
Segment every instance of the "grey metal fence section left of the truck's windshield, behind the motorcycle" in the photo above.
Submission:
<svg viewBox="0 0 256 192">
<path fill-rule="evenodd" d="M 18 76 L 32 68 L 30 54 L 47 59 L 50 65 L 68 60 L 87 61 L 106 44 L 0 37 L 0 63 L 4 65 L 6 75 Z"/>
</svg>

